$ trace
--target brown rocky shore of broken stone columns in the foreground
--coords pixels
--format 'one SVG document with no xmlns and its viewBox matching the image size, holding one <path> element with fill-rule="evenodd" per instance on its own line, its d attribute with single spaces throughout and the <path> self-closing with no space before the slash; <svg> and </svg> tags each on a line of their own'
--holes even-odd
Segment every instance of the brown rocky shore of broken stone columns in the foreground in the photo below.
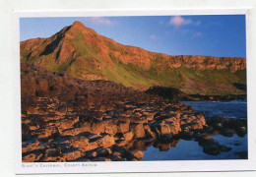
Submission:
<svg viewBox="0 0 256 177">
<path fill-rule="evenodd" d="M 141 160 L 143 150 L 198 142 L 229 151 L 213 135 L 244 136 L 247 121 L 207 118 L 192 107 L 109 81 L 82 81 L 22 64 L 23 162 Z"/>
</svg>

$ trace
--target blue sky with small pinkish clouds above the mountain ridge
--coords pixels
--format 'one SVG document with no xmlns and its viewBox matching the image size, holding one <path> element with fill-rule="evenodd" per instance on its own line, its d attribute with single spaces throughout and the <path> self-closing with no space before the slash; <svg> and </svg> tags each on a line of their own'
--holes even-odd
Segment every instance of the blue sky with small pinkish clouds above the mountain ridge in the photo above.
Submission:
<svg viewBox="0 0 256 177">
<path fill-rule="evenodd" d="M 20 40 L 49 37 L 75 21 L 149 51 L 246 57 L 244 15 L 21 18 Z"/>
</svg>

